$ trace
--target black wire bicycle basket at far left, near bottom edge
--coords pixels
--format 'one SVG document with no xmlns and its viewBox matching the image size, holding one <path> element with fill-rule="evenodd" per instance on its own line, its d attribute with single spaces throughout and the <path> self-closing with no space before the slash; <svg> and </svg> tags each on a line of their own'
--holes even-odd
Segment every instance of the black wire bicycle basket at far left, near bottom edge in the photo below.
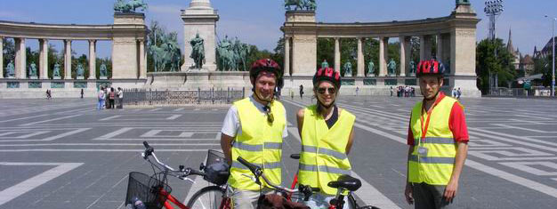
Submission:
<svg viewBox="0 0 557 209">
<path fill-rule="evenodd" d="M 139 199 L 147 208 L 160 209 L 165 204 L 165 194 L 169 195 L 171 191 L 170 186 L 163 181 L 144 173 L 132 172 L 127 184 L 125 205 L 133 204 L 135 199 Z"/>
</svg>

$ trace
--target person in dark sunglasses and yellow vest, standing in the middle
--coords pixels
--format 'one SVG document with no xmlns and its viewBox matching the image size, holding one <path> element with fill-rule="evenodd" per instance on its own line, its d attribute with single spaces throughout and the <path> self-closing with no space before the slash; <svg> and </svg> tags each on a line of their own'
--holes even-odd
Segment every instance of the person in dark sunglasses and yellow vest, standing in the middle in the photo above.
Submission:
<svg viewBox="0 0 557 209">
<path fill-rule="evenodd" d="M 341 76 L 333 68 L 319 68 L 313 76 L 313 93 L 317 104 L 300 109 L 297 114 L 302 152 L 298 181 L 319 188 L 318 194 L 305 202 L 311 208 L 327 208 L 336 189 L 327 186 L 339 176 L 351 173 L 348 160 L 356 117 L 335 105 Z M 348 206 L 345 206 L 348 208 Z"/>
</svg>

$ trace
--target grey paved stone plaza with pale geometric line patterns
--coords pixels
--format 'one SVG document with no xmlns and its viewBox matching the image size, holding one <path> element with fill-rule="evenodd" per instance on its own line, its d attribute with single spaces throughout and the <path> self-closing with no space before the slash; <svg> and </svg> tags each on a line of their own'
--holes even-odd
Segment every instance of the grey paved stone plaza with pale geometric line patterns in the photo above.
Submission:
<svg viewBox="0 0 557 209">
<path fill-rule="evenodd" d="M 404 200 L 409 110 L 417 98 L 343 97 L 357 116 L 351 151 L 356 193 L 367 205 L 410 208 Z M 300 150 L 295 110 L 310 98 L 284 100 L 289 136 L 284 184 Z M 554 208 L 557 205 L 557 100 L 464 99 L 471 148 L 458 208 Z M 228 107 L 95 110 L 95 100 L 2 100 L 0 208 L 123 208 L 127 173 L 152 173 L 141 141 L 177 167 L 197 168 L 220 149 Z M 206 186 L 170 181 L 176 197 Z"/>
</svg>

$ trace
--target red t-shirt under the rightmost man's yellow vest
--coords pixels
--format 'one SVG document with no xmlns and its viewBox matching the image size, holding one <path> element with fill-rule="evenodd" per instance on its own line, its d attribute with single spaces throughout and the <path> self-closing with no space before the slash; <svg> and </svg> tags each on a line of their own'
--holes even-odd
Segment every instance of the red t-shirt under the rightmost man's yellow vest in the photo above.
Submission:
<svg viewBox="0 0 557 209">
<path fill-rule="evenodd" d="M 445 98 L 445 94 L 440 92 L 440 97 L 436 102 L 439 102 L 443 98 Z M 450 111 L 450 116 L 448 117 L 448 127 L 453 133 L 453 138 L 455 138 L 456 142 L 467 143 L 470 140 L 470 136 L 468 135 L 468 126 L 466 125 L 466 118 L 464 117 L 464 109 L 458 102 L 455 102 Z M 414 146 L 414 133 L 412 133 L 410 125 L 408 125 L 407 141 L 408 145 Z"/>
</svg>

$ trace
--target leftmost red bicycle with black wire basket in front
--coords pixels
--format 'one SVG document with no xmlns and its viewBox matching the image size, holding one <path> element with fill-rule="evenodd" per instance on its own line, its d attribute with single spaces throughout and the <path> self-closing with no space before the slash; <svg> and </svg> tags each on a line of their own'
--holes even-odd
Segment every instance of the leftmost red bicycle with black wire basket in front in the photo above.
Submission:
<svg viewBox="0 0 557 209">
<path fill-rule="evenodd" d="M 147 141 L 143 141 L 143 145 L 145 146 L 145 151 L 141 153 L 141 157 L 149 162 L 153 168 L 154 174 L 150 176 L 138 172 L 129 174 L 127 193 L 125 196 L 126 209 L 160 209 L 163 207 L 166 209 L 174 209 L 174 206 L 180 209 L 231 208 L 230 197 L 226 196 L 226 191 L 228 189 L 226 185 L 228 168 L 225 169 L 226 173 L 218 173 L 220 171 L 215 171 L 213 166 L 218 165 L 219 162 L 224 162 L 222 152 L 209 150 L 206 164 L 202 164 L 199 170 L 185 168 L 184 165 L 180 165 L 179 169 L 174 169 L 158 160 L 155 150 L 149 146 Z M 151 158 L 155 159 L 155 162 L 151 161 Z M 193 180 L 188 177 L 190 175 L 198 175 L 214 185 L 198 190 L 192 195 L 188 204 L 184 205 L 170 194 L 172 188 L 167 184 L 167 176 L 169 175 L 184 181 L 192 182 Z"/>
</svg>

